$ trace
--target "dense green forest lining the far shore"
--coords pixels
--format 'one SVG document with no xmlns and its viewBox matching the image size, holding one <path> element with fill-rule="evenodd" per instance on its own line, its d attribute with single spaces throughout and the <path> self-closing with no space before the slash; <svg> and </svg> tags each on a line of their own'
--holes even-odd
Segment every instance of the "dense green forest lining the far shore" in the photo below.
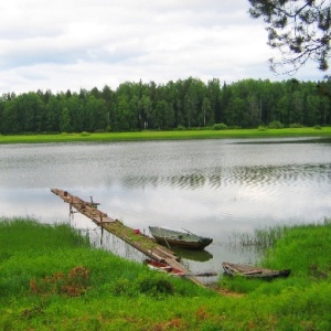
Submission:
<svg viewBox="0 0 331 331">
<path fill-rule="evenodd" d="M 255 128 L 331 125 L 329 82 L 245 79 L 206 84 L 190 77 L 168 84 L 124 83 L 116 90 L 51 90 L 0 98 L 0 134 L 98 132 L 178 128 Z"/>
</svg>

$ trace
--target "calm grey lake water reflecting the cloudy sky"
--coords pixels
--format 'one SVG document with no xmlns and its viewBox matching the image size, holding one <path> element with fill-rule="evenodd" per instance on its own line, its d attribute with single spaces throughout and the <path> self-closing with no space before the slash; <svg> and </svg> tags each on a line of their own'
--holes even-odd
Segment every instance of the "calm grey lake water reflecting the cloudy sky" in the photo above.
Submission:
<svg viewBox="0 0 331 331">
<path fill-rule="evenodd" d="M 234 237 L 256 228 L 331 217 L 331 142 L 323 139 L 226 139 L 0 146 L 0 216 L 70 222 L 98 247 L 142 256 L 103 234 L 52 188 L 89 201 L 126 225 L 185 228 L 213 237 L 199 254 L 180 252 L 193 271 L 249 263 Z"/>
</svg>

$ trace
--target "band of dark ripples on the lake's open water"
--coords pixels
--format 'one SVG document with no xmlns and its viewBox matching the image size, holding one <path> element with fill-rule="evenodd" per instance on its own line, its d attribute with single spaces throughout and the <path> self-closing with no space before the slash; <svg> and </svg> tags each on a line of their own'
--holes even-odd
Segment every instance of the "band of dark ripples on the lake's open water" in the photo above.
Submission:
<svg viewBox="0 0 331 331">
<path fill-rule="evenodd" d="M 126 177 L 122 184 L 129 188 L 172 186 L 196 190 L 209 186 L 214 190 L 242 185 L 254 188 L 309 186 L 317 183 L 331 183 L 331 164 L 281 166 L 281 167 L 234 167 L 215 168 L 206 172 L 157 177 Z"/>
</svg>

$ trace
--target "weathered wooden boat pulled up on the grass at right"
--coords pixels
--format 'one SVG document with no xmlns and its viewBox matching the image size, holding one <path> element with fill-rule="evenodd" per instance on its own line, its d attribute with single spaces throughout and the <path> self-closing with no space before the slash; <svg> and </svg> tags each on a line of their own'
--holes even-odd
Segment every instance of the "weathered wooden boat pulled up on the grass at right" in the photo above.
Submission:
<svg viewBox="0 0 331 331">
<path fill-rule="evenodd" d="M 290 269 L 273 270 L 266 268 L 259 268 L 254 266 L 246 266 L 239 264 L 223 263 L 224 274 L 227 276 L 243 276 L 246 278 L 286 278 L 290 275 Z"/>
</svg>

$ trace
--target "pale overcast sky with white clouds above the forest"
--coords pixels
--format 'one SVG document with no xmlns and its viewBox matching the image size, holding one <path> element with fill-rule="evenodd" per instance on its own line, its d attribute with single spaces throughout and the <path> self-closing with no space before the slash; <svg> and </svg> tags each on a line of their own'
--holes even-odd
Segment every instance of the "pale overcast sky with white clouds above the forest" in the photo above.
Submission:
<svg viewBox="0 0 331 331">
<path fill-rule="evenodd" d="M 10 0 L 0 4 L 0 94 L 190 76 L 282 81 L 247 0 Z M 312 63 L 296 75 L 318 81 Z"/>
</svg>

